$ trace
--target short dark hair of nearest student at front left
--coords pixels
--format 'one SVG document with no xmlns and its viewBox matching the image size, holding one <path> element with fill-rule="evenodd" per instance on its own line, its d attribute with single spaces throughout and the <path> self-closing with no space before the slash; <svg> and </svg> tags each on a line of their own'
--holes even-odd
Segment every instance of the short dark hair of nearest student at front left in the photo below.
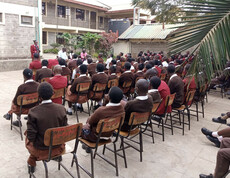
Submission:
<svg viewBox="0 0 230 178">
<path fill-rule="evenodd" d="M 47 82 L 43 82 L 38 87 L 38 96 L 43 100 L 49 100 L 53 95 L 53 87 Z"/>
</svg>

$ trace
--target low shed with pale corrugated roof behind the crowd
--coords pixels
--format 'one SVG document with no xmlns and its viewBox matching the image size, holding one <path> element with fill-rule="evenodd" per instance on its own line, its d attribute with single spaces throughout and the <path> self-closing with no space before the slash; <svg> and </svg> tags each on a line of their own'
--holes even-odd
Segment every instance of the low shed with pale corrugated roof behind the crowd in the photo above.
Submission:
<svg viewBox="0 0 230 178">
<path fill-rule="evenodd" d="M 139 24 L 130 26 L 113 45 L 114 54 L 131 53 L 136 57 L 140 51 L 169 52 L 167 39 L 183 24 Z"/>
</svg>

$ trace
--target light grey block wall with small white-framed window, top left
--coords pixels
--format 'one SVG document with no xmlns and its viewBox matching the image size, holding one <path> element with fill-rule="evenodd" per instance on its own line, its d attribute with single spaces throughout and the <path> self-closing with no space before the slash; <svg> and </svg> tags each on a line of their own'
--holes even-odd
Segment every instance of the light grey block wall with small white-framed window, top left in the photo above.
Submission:
<svg viewBox="0 0 230 178">
<path fill-rule="evenodd" d="M 30 58 L 30 45 L 36 39 L 37 1 L 19 0 L 0 2 L 0 13 L 3 13 L 3 23 L 0 23 L 0 60 Z M 30 2 L 30 3 L 28 3 Z M 15 4 L 12 4 L 15 3 Z M 29 4 L 31 6 L 23 5 Z M 19 4 L 19 5 L 18 5 Z M 7 8 L 6 8 L 7 7 Z M 31 16 L 32 25 L 21 24 L 21 16 Z"/>
</svg>

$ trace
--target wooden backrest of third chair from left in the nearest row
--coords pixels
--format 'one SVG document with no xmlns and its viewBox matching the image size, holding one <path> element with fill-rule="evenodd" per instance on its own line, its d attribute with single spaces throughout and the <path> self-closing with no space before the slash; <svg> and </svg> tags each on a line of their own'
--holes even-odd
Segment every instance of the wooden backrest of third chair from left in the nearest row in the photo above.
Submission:
<svg viewBox="0 0 230 178">
<path fill-rule="evenodd" d="M 149 112 L 139 113 L 139 112 L 132 112 L 129 118 L 128 125 L 140 125 L 146 122 L 149 119 Z"/>
</svg>

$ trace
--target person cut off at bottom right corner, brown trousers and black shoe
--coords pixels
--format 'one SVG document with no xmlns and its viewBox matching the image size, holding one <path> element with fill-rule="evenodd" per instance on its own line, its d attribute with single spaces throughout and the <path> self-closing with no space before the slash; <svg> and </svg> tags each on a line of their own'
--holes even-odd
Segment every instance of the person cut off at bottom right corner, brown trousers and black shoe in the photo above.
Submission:
<svg viewBox="0 0 230 178">
<path fill-rule="evenodd" d="M 217 153 L 216 168 L 214 175 L 200 174 L 200 178 L 223 178 L 230 166 L 230 138 L 223 138 L 220 149 Z"/>
</svg>

